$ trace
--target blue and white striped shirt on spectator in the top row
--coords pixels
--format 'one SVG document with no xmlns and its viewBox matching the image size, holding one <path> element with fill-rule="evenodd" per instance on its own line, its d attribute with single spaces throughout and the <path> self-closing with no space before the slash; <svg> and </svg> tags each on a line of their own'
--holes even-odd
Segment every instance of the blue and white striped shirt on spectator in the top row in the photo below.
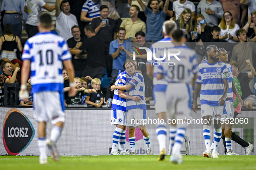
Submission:
<svg viewBox="0 0 256 170">
<path fill-rule="evenodd" d="M 82 11 L 87 12 L 88 18 L 99 17 L 100 5 L 97 1 L 87 0 L 82 7 Z"/>
</svg>

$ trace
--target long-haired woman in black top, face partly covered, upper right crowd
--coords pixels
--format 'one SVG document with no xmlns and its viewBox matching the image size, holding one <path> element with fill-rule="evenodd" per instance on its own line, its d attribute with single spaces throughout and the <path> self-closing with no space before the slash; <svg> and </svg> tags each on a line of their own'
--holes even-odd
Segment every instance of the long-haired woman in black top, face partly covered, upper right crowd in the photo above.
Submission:
<svg viewBox="0 0 256 170">
<path fill-rule="evenodd" d="M 211 39 L 211 27 L 208 26 L 205 23 L 201 24 L 200 21 L 202 21 L 204 19 L 204 16 L 202 14 L 199 14 L 195 21 L 196 21 L 196 24 L 194 26 L 194 31 L 197 31 L 198 32 L 198 37 L 196 38 L 195 36 L 193 36 L 191 38 L 192 41 L 199 41 L 201 39 L 202 42 L 207 42 L 208 39 Z M 205 19 L 204 19 L 205 21 Z M 198 25 L 200 25 L 200 28 L 198 28 Z"/>
</svg>

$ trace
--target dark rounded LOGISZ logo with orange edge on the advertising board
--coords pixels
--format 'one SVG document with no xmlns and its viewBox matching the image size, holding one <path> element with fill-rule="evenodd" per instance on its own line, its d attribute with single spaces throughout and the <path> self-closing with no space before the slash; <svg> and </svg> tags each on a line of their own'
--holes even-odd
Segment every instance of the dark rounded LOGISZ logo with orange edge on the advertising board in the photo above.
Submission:
<svg viewBox="0 0 256 170">
<path fill-rule="evenodd" d="M 8 111 L 3 122 L 3 145 L 8 154 L 17 155 L 26 149 L 34 135 L 35 129 L 23 113 Z"/>
</svg>

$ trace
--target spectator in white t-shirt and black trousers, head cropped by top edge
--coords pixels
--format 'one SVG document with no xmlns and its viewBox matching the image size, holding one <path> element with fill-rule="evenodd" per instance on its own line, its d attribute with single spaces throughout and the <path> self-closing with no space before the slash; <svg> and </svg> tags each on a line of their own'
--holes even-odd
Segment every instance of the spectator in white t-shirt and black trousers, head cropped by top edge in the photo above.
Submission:
<svg viewBox="0 0 256 170">
<path fill-rule="evenodd" d="M 29 14 L 26 21 L 26 33 L 28 35 L 28 38 L 38 33 L 37 18 L 41 13 L 42 8 L 48 10 L 49 12 L 52 12 L 55 10 L 55 5 L 49 6 L 47 3 L 45 3 L 44 0 L 27 0 L 26 5 L 24 6 L 24 12 Z"/>
</svg>

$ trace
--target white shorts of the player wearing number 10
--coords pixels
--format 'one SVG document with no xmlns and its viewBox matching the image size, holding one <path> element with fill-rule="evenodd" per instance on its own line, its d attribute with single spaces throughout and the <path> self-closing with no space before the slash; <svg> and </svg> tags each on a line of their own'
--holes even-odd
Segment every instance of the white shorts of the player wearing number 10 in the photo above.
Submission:
<svg viewBox="0 0 256 170">
<path fill-rule="evenodd" d="M 47 122 L 54 125 L 65 122 L 64 95 L 58 91 L 42 91 L 33 94 L 34 117 L 38 122 Z"/>
</svg>

